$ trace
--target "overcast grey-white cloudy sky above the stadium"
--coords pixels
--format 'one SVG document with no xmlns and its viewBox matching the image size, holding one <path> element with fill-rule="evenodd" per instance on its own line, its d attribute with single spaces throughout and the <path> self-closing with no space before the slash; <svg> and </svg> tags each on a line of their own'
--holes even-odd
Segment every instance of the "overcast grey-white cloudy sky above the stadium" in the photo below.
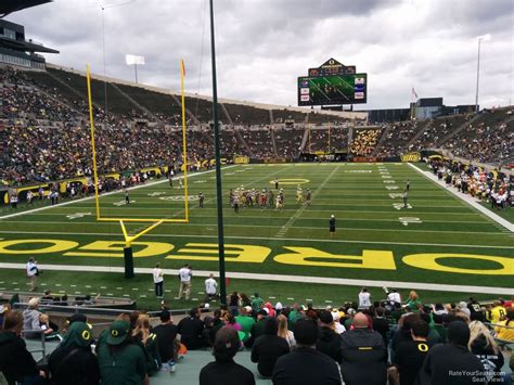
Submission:
<svg viewBox="0 0 514 385">
<path fill-rule="evenodd" d="M 104 5 L 102 28 L 102 10 Z M 218 95 L 296 105 L 296 78 L 330 57 L 368 73 L 363 108 L 407 107 L 411 89 L 445 104 L 475 102 L 477 36 L 483 106 L 514 97 L 513 0 L 215 0 Z M 211 94 L 208 0 L 55 0 L 12 14 L 27 38 L 61 51 L 51 63 Z M 103 34 L 102 30 L 105 33 Z"/>
</svg>

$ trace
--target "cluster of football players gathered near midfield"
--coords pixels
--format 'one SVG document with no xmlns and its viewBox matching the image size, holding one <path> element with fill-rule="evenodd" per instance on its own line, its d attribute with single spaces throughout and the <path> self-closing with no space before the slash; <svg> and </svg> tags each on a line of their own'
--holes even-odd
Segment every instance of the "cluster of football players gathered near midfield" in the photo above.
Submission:
<svg viewBox="0 0 514 385">
<path fill-rule="evenodd" d="M 257 189 L 245 189 L 244 185 L 241 185 L 236 189 L 231 189 L 229 192 L 229 203 L 230 206 L 239 214 L 241 207 L 260 207 L 265 208 L 275 208 L 275 210 L 282 210 L 284 208 L 284 189 L 279 189 L 279 181 L 274 181 L 277 197 L 271 189 L 262 189 L 259 191 Z M 312 194 L 310 189 L 303 190 L 298 184 L 296 187 L 296 203 L 310 206 L 312 201 Z"/>
</svg>

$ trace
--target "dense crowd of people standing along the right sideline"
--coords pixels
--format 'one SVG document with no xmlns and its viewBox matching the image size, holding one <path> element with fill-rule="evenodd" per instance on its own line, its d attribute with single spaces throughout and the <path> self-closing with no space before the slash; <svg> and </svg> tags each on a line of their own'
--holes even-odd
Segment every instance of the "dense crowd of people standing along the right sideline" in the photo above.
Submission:
<svg viewBox="0 0 514 385">
<path fill-rule="evenodd" d="M 434 175 L 447 185 L 453 185 L 462 193 L 489 204 L 491 208 L 503 210 L 514 206 L 514 177 L 446 158 L 427 162 Z"/>
</svg>

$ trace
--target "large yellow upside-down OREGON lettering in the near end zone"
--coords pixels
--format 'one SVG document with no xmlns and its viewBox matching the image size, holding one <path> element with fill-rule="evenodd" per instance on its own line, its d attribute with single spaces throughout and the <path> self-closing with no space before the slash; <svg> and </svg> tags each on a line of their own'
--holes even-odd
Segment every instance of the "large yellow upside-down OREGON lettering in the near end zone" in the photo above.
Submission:
<svg viewBox="0 0 514 385">
<path fill-rule="evenodd" d="M 165 242 L 133 242 L 137 246 L 134 257 L 157 257 L 170 253 L 175 246 Z M 80 246 L 67 240 L 0 240 L 0 255 L 40 255 L 63 253 L 63 256 L 76 257 L 123 257 L 121 241 L 94 241 Z M 259 245 L 227 244 L 228 262 L 264 264 L 271 254 L 271 248 Z M 339 255 L 320 251 L 314 247 L 283 246 L 290 253 L 278 253 L 273 260 L 278 264 L 316 266 L 327 268 L 356 268 L 397 270 L 393 252 L 362 251 L 360 255 Z M 66 253 L 64 253 L 66 252 Z M 218 245 L 215 243 L 188 243 L 177 254 L 167 255 L 166 259 L 175 260 L 218 260 Z M 450 267 L 441 265 L 445 258 L 474 259 L 477 261 L 496 262 L 499 268 L 472 269 L 467 267 Z M 475 254 L 411 254 L 404 256 L 402 262 L 419 269 L 477 275 L 514 275 L 514 258 L 475 255 Z"/>
</svg>

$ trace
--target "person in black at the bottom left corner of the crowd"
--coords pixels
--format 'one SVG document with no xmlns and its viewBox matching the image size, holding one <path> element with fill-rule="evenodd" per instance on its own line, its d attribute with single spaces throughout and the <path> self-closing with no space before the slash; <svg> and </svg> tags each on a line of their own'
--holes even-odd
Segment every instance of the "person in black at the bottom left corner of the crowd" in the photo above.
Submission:
<svg viewBox="0 0 514 385">
<path fill-rule="evenodd" d="M 38 369 L 36 361 L 27 350 L 21 337 L 23 316 L 20 311 L 10 311 L 0 332 L 0 372 L 9 385 L 15 383 L 44 384 L 43 371 Z"/>
</svg>

